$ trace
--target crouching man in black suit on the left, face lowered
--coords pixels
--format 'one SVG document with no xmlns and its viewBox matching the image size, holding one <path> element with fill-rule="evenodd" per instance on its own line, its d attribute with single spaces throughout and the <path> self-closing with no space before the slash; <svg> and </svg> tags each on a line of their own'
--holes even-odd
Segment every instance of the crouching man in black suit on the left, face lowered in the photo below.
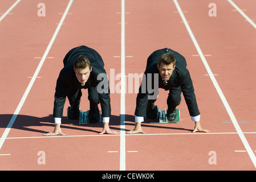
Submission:
<svg viewBox="0 0 256 182">
<path fill-rule="evenodd" d="M 71 118 L 79 118 L 81 89 L 88 89 L 90 122 L 99 121 L 97 105 L 100 103 L 104 124 L 100 134 L 118 134 L 109 129 L 110 92 L 104 62 L 99 53 L 86 46 L 75 47 L 64 57 L 63 64 L 64 68 L 59 73 L 54 96 L 55 129 L 52 133 L 44 135 L 65 135 L 60 130 L 60 124 L 66 97 L 71 105 Z"/>
</svg>

